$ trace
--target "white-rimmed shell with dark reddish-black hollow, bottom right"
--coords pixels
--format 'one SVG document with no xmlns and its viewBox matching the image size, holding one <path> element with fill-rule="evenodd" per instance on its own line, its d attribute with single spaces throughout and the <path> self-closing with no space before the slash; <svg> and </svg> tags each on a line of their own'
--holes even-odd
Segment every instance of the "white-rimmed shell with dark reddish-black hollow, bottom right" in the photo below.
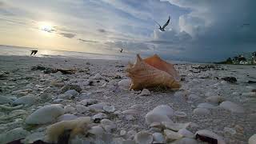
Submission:
<svg viewBox="0 0 256 144">
<path fill-rule="evenodd" d="M 225 141 L 220 136 L 210 130 L 198 130 L 195 133 L 195 138 L 211 144 L 225 144 Z"/>
</svg>

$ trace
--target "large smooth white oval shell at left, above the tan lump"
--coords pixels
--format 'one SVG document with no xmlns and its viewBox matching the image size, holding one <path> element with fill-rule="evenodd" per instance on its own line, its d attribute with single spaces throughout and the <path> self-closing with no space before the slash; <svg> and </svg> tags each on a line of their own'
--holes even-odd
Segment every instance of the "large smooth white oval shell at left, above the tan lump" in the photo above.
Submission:
<svg viewBox="0 0 256 144">
<path fill-rule="evenodd" d="M 26 124 L 39 125 L 54 122 L 62 114 L 64 109 L 60 104 L 43 106 L 26 118 Z"/>
</svg>

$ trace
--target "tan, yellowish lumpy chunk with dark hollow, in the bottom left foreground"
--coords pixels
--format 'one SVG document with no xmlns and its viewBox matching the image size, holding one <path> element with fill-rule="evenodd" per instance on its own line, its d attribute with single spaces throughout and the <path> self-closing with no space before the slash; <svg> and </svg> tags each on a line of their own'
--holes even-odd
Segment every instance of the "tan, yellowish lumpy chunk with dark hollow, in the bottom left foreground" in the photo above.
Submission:
<svg viewBox="0 0 256 144">
<path fill-rule="evenodd" d="M 68 138 L 74 138 L 78 134 L 87 134 L 90 130 L 90 123 L 92 123 L 90 117 L 80 117 L 70 121 L 54 123 L 47 127 L 47 141 L 58 142 L 59 139 L 65 136 L 65 133 L 68 134 Z"/>
</svg>

